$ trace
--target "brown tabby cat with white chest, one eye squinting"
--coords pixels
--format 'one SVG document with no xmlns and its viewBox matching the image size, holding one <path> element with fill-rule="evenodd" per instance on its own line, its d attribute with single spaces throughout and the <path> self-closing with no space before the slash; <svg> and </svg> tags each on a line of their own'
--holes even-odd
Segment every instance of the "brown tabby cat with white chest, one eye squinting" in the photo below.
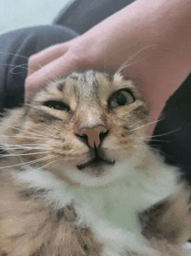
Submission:
<svg viewBox="0 0 191 256">
<path fill-rule="evenodd" d="M 73 72 L 0 124 L 0 255 L 181 256 L 190 189 L 148 146 L 130 79 Z"/>
</svg>

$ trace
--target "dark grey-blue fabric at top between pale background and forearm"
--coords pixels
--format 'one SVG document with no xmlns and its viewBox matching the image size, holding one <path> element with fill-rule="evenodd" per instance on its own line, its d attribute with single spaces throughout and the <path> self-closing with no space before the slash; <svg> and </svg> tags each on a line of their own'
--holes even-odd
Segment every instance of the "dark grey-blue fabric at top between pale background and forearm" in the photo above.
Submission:
<svg viewBox="0 0 191 256">
<path fill-rule="evenodd" d="M 121 10 L 135 0 L 75 0 L 66 5 L 54 24 L 67 26 L 83 34 L 106 17 Z"/>
</svg>

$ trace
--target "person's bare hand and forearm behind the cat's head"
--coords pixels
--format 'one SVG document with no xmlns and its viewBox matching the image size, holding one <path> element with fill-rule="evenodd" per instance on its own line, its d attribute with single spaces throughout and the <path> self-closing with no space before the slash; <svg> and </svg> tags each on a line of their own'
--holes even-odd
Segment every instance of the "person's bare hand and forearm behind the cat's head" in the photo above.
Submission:
<svg viewBox="0 0 191 256">
<path fill-rule="evenodd" d="M 25 101 L 53 77 L 89 68 L 115 73 L 126 64 L 122 73 L 138 84 L 155 121 L 191 71 L 190 22 L 190 0 L 137 0 L 82 36 L 31 56 Z"/>
</svg>

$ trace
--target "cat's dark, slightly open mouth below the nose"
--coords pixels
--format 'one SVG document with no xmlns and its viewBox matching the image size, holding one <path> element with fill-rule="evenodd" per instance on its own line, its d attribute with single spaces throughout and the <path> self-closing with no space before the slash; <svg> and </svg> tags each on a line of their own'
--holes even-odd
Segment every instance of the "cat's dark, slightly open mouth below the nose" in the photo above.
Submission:
<svg viewBox="0 0 191 256">
<path fill-rule="evenodd" d="M 95 156 L 95 158 L 91 159 L 89 162 L 82 165 L 77 165 L 77 168 L 81 171 L 86 167 L 99 168 L 103 165 L 115 165 L 115 160 L 103 159 Z"/>
</svg>

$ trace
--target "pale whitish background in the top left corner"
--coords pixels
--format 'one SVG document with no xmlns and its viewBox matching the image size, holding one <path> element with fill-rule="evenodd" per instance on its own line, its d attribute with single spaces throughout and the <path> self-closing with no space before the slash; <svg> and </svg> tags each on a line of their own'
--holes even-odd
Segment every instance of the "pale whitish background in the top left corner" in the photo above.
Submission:
<svg viewBox="0 0 191 256">
<path fill-rule="evenodd" d="M 33 25 L 51 24 L 71 0 L 0 0 L 0 34 Z"/>
</svg>

